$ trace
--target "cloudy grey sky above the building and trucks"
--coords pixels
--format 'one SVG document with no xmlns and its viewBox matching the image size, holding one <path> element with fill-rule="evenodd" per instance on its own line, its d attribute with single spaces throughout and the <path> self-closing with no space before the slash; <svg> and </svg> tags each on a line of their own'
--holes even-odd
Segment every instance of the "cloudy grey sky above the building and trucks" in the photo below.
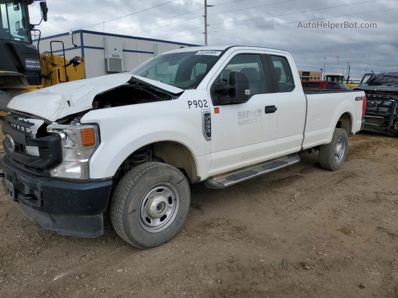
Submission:
<svg viewBox="0 0 398 298">
<path fill-rule="evenodd" d="M 37 4 L 30 8 L 32 23 L 40 17 Z M 397 0 L 208 0 L 207 4 L 213 5 L 208 8 L 209 45 L 287 50 L 299 70 L 320 70 L 327 57 L 326 73 L 337 72 L 339 55 L 339 72 L 344 68 L 346 73 L 350 62 L 351 78 L 361 77 L 366 69 L 397 71 Z M 39 26 L 43 36 L 84 28 L 204 44 L 204 0 L 47 0 L 47 5 L 49 19 Z M 376 23 L 377 28 L 298 28 L 298 21 L 309 20 Z"/>
</svg>

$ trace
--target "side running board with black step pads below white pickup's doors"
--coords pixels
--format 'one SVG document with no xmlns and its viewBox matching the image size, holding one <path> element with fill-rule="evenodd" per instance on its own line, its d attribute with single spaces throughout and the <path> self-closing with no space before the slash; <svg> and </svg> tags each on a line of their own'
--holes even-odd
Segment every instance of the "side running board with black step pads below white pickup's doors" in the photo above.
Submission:
<svg viewBox="0 0 398 298">
<path fill-rule="evenodd" d="M 249 180 L 269 172 L 285 168 L 292 164 L 298 163 L 300 157 L 297 153 L 289 154 L 270 161 L 264 161 L 263 163 L 253 164 L 252 166 L 246 166 L 238 170 L 233 170 L 224 174 L 209 177 L 205 180 L 205 186 L 208 188 L 225 188 L 227 186 Z"/>
</svg>

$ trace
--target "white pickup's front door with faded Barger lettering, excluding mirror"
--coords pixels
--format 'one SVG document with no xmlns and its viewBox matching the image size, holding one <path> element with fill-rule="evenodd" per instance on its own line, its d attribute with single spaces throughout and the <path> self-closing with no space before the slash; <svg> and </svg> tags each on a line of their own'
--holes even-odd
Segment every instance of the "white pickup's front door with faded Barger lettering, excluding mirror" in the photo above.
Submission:
<svg viewBox="0 0 398 298">
<path fill-rule="evenodd" d="M 220 103 L 215 84 L 229 83 L 230 73 L 246 75 L 250 95 L 244 103 Z M 239 50 L 213 78 L 211 107 L 212 175 L 272 159 L 275 154 L 278 100 L 265 53 Z M 249 91 L 248 91 L 249 92 Z"/>
</svg>

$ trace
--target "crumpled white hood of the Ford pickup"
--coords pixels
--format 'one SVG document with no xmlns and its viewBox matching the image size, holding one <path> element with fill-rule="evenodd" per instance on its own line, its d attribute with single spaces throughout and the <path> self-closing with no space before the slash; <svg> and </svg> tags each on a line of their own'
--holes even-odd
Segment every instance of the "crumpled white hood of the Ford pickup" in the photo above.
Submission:
<svg viewBox="0 0 398 298">
<path fill-rule="evenodd" d="M 103 75 L 60 83 L 14 97 L 7 105 L 12 110 L 25 112 L 51 122 L 66 116 L 90 110 L 96 95 L 119 87 L 125 83 L 142 83 L 163 89 L 173 94 L 184 90 L 158 81 L 129 73 Z"/>
</svg>

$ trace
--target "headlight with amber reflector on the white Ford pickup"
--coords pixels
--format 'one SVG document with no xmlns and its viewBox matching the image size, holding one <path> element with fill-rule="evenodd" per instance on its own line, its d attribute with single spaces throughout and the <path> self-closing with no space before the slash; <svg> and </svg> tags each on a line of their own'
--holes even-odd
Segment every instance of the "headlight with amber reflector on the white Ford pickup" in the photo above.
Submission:
<svg viewBox="0 0 398 298">
<path fill-rule="evenodd" d="M 51 177 L 87 180 L 88 161 L 99 145 L 97 126 L 51 124 L 47 132 L 59 134 L 62 146 L 62 163 L 51 170 Z"/>
</svg>

